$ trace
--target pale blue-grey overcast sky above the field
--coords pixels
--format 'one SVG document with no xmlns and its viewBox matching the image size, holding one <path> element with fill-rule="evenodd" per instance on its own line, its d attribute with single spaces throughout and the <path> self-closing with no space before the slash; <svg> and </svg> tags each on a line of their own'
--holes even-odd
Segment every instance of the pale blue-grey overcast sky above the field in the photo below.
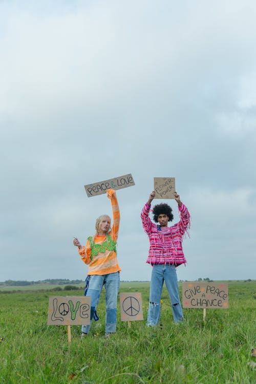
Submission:
<svg viewBox="0 0 256 384">
<path fill-rule="evenodd" d="M 130 173 L 121 280 L 150 280 L 154 177 L 191 215 L 178 279 L 255 278 L 255 17 L 254 0 L 0 1 L 0 281 L 85 279 L 73 237 L 111 205 L 83 185 Z"/>
</svg>

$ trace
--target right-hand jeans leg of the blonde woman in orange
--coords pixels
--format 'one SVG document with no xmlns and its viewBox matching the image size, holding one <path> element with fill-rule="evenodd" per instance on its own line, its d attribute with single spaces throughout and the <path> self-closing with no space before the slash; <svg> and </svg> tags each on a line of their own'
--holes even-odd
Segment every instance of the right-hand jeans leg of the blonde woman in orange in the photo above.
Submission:
<svg viewBox="0 0 256 384">
<path fill-rule="evenodd" d="M 116 332 L 117 295 L 120 285 L 120 273 L 114 272 L 105 275 L 106 290 L 106 325 L 105 332 Z"/>
</svg>

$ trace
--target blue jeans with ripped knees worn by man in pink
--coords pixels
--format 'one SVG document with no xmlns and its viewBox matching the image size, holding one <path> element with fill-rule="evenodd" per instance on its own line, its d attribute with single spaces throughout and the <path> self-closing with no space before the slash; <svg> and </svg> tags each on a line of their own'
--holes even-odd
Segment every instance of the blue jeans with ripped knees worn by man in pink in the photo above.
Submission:
<svg viewBox="0 0 256 384">
<path fill-rule="evenodd" d="M 174 321 L 180 322 L 183 319 L 175 266 L 172 264 L 155 264 L 151 275 L 150 305 L 147 312 L 148 326 L 155 326 L 159 322 L 160 300 L 164 281 L 172 303 Z"/>
</svg>

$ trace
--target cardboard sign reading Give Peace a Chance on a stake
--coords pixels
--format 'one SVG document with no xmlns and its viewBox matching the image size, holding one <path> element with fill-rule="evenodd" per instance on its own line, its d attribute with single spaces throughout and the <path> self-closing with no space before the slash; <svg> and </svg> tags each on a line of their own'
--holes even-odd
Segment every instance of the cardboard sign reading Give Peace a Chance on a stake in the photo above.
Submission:
<svg viewBox="0 0 256 384">
<path fill-rule="evenodd" d="M 227 283 L 184 282 L 183 308 L 228 308 Z"/>
</svg>

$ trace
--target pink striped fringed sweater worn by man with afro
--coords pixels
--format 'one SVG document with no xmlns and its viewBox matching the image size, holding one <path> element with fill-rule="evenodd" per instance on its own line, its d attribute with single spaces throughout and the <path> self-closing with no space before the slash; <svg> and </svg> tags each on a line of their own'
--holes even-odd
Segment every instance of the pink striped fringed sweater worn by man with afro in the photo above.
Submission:
<svg viewBox="0 0 256 384">
<path fill-rule="evenodd" d="M 180 221 L 171 227 L 161 227 L 152 223 L 148 217 L 150 206 L 147 203 L 144 205 L 140 216 L 144 231 L 150 239 L 150 250 L 146 260 L 148 264 L 174 264 L 178 266 L 186 263 L 182 249 L 182 238 L 190 226 L 190 215 L 184 204 L 178 208 Z"/>
</svg>

